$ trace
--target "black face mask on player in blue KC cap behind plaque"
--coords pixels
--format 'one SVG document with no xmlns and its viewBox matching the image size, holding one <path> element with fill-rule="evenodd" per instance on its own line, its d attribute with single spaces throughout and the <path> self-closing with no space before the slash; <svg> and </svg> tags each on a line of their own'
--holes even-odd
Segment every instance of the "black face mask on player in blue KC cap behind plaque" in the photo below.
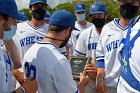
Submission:
<svg viewBox="0 0 140 93">
<path fill-rule="evenodd" d="M 92 18 L 91 21 L 95 25 L 96 28 L 101 28 L 105 24 L 105 18 Z"/>
</svg>

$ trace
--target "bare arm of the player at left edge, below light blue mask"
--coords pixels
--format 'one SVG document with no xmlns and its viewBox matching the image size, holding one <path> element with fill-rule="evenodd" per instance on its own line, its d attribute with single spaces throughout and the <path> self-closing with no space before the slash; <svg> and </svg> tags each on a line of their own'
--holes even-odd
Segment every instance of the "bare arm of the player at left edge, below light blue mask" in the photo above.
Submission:
<svg viewBox="0 0 140 93">
<path fill-rule="evenodd" d="M 17 49 L 13 39 L 4 40 L 3 42 L 5 45 L 6 51 L 8 52 L 8 55 L 10 56 L 10 58 L 13 61 L 14 68 L 15 69 L 20 68 L 21 67 L 20 56 L 19 56 L 18 49 Z"/>
</svg>

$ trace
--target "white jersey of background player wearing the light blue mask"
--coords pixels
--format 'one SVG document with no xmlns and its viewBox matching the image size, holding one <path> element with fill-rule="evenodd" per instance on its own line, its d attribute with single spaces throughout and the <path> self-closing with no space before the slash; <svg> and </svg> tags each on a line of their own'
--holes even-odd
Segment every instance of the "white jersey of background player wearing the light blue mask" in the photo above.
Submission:
<svg viewBox="0 0 140 93">
<path fill-rule="evenodd" d="M 71 56 L 75 56 L 75 54 L 74 54 L 74 48 L 76 46 L 76 43 L 77 43 L 77 40 L 79 38 L 80 33 L 83 30 L 85 30 L 85 29 L 87 29 L 87 28 L 89 28 L 91 26 L 93 26 L 93 24 L 92 23 L 89 23 L 89 22 L 87 22 L 87 24 L 85 26 L 83 26 L 83 27 L 80 26 L 77 22 L 75 22 L 75 27 L 78 30 L 73 30 L 72 31 L 71 37 L 70 37 L 69 42 L 67 44 L 70 47 L 70 55 Z"/>
</svg>

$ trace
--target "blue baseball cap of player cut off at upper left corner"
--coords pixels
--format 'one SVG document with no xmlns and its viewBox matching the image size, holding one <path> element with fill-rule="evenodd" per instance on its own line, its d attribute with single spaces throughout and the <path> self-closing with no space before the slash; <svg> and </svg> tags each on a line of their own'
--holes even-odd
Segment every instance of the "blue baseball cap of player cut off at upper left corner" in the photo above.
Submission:
<svg viewBox="0 0 140 93">
<path fill-rule="evenodd" d="M 18 12 L 15 0 L 0 0 L 0 14 L 6 14 L 17 20 L 24 20 Z"/>
</svg>

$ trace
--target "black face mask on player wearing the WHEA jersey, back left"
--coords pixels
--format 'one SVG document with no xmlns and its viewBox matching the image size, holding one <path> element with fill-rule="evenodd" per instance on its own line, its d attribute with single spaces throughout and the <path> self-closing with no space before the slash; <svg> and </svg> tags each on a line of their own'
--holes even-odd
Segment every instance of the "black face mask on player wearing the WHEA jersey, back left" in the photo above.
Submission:
<svg viewBox="0 0 140 93">
<path fill-rule="evenodd" d="M 45 18 L 45 14 L 46 10 L 42 9 L 41 7 L 36 10 L 32 10 L 33 18 L 36 20 L 43 20 Z"/>
</svg>

